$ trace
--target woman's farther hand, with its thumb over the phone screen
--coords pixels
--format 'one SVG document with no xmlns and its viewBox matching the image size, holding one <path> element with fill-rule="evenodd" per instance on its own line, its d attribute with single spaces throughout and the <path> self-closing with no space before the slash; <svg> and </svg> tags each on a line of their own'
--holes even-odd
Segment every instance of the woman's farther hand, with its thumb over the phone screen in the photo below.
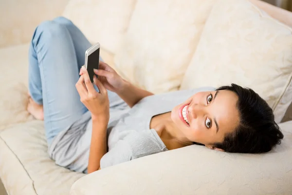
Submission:
<svg viewBox="0 0 292 195">
<path fill-rule="evenodd" d="M 106 89 L 118 93 L 125 87 L 125 80 L 105 62 L 99 61 L 99 69 L 94 69 L 93 71 L 99 76 L 98 79 L 100 79 Z M 82 75 L 81 71 L 80 75 Z"/>
</svg>

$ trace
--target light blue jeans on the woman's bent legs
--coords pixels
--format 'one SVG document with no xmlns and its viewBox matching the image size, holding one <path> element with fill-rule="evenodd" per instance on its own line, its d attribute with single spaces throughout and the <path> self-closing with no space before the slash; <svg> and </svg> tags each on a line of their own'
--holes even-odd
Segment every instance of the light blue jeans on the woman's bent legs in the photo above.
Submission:
<svg viewBox="0 0 292 195">
<path fill-rule="evenodd" d="M 43 104 L 48 144 L 89 112 L 75 88 L 89 47 L 82 32 L 63 17 L 42 22 L 34 32 L 29 49 L 29 92 L 34 101 Z M 125 103 L 113 92 L 108 95 L 111 108 Z"/>
</svg>

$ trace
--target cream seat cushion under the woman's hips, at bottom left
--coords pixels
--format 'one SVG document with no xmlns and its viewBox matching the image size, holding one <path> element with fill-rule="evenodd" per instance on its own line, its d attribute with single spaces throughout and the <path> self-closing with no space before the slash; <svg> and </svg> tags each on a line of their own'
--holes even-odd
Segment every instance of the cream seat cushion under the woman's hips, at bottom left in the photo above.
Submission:
<svg viewBox="0 0 292 195">
<path fill-rule="evenodd" d="M 0 132 L 0 177 L 10 195 L 68 195 L 85 174 L 50 159 L 42 121 L 13 125 Z"/>
</svg>

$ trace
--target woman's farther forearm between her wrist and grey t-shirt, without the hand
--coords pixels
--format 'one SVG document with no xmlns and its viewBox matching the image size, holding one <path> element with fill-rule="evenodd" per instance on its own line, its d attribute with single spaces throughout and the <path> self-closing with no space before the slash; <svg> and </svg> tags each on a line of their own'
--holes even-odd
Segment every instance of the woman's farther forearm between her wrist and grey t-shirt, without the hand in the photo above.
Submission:
<svg viewBox="0 0 292 195">
<path fill-rule="evenodd" d="M 154 95 L 149 91 L 134 86 L 126 80 L 124 80 L 123 87 L 116 93 L 128 104 L 129 107 L 133 107 L 142 98 Z"/>
</svg>

